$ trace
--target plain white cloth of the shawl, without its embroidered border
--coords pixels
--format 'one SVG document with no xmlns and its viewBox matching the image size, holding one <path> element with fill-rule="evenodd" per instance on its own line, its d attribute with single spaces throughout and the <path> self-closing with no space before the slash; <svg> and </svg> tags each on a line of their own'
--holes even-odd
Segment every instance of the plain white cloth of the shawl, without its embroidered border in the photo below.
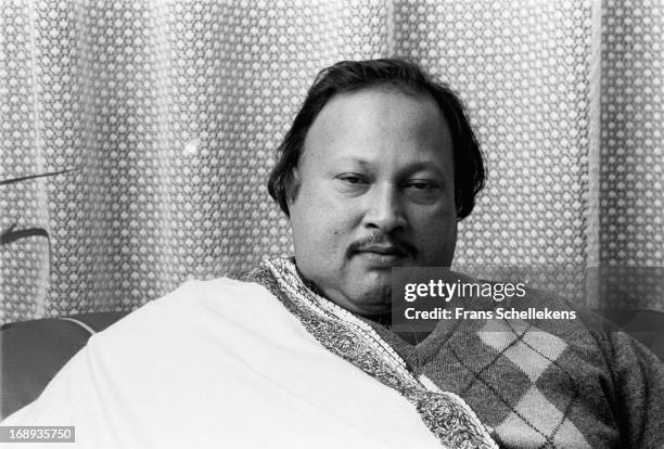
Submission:
<svg viewBox="0 0 664 449">
<path fill-rule="evenodd" d="M 92 336 L 2 425 L 74 425 L 81 448 L 440 448 L 399 393 L 230 279 L 188 282 Z"/>
</svg>

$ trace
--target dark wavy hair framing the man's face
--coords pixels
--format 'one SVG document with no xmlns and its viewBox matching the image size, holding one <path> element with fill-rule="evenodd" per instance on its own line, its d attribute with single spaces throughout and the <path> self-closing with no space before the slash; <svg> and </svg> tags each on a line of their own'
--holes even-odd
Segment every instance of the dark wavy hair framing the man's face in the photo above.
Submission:
<svg viewBox="0 0 664 449">
<path fill-rule="evenodd" d="M 314 120 L 332 97 L 372 87 L 426 92 L 434 98 L 449 124 L 452 138 L 457 217 L 459 220 L 468 217 L 475 205 L 475 195 L 484 187 L 486 175 L 482 150 L 463 103 L 449 87 L 432 79 L 414 63 L 399 59 L 342 61 L 318 74 L 291 129 L 279 145 L 279 161 L 268 181 L 270 196 L 290 216 L 289 184 Z"/>
</svg>

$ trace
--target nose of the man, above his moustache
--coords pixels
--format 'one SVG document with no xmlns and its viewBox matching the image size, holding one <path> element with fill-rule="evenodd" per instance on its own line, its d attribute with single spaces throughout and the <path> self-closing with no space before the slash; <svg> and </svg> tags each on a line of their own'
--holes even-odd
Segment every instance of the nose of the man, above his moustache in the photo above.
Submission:
<svg viewBox="0 0 664 449">
<path fill-rule="evenodd" d="M 398 189 L 388 184 L 374 184 L 372 194 L 367 195 L 365 226 L 390 233 L 404 230 L 407 222 Z"/>
</svg>

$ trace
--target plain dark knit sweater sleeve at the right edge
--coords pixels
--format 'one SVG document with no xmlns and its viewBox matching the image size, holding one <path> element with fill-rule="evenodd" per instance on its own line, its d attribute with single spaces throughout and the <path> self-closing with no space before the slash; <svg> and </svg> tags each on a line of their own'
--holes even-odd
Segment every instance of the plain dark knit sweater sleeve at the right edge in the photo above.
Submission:
<svg viewBox="0 0 664 449">
<path fill-rule="evenodd" d="M 664 447 L 664 363 L 624 332 L 609 331 L 606 338 L 623 447 Z"/>
</svg>

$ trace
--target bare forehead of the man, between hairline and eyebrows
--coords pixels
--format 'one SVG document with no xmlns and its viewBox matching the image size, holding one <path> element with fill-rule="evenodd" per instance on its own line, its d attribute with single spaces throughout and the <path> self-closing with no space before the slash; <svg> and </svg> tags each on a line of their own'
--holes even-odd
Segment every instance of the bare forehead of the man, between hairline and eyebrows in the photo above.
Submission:
<svg viewBox="0 0 664 449">
<path fill-rule="evenodd" d="M 333 97 L 305 139 L 303 158 L 436 158 L 449 165 L 451 137 L 427 92 L 369 88 Z"/>
</svg>

